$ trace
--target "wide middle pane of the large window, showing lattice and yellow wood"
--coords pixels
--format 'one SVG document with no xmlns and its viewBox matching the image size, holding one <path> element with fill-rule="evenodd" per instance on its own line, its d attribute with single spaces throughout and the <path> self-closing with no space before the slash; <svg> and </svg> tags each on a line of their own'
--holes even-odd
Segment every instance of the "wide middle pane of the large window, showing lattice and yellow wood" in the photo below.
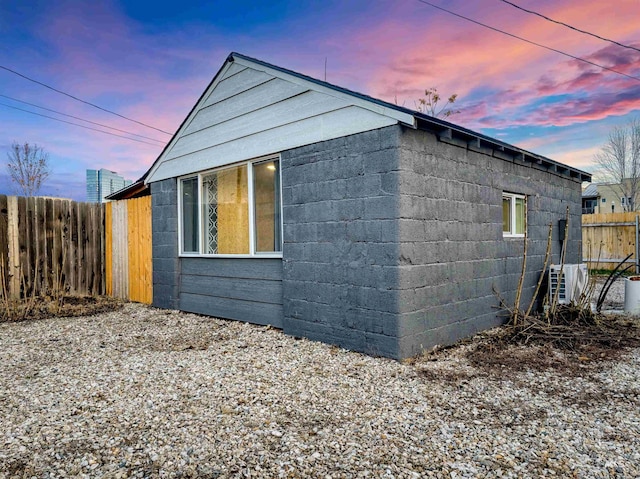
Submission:
<svg viewBox="0 0 640 479">
<path fill-rule="evenodd" d="M 205 254 L 249 254 L 247 165 L 202 177 Z"/>
</svg>

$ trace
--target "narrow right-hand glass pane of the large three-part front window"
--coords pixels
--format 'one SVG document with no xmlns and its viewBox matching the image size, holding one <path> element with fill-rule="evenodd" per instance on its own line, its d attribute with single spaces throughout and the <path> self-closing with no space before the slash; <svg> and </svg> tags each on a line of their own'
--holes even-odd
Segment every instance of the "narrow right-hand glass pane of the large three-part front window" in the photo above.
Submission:
<svg viewBox="0 0 640 479">
<path fill-rule="evenodd" d="M 277 160 L 253 165 L 255 248 L 259 253 L 282 251 L 279 166 Z"/>
</svg>

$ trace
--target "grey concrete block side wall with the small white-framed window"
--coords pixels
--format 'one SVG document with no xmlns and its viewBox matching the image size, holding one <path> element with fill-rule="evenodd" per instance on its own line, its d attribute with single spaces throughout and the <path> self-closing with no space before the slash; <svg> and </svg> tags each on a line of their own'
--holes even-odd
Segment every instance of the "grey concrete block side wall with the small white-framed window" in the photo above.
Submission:
<svg viewBox="0 0 640 479">
<path fill-rule="evenodd" d="M 513 302 L 524 241 L 502 235 L 502 193 L 527 195 L 528 254 L 521 308 L 535 290 L 552 224 L 570 208 L 567 263 L 580 256 L 580 183 L 494 152 L 403 129 L 399 158 L 398 356 L 500 324 L 495 287 Z"/>
</svg>

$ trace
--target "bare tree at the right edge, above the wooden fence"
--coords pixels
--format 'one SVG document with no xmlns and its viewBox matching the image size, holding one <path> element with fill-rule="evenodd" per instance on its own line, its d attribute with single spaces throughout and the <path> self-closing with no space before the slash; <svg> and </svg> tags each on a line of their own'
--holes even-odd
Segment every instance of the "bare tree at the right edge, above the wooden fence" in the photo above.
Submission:
<svg viewBox="0 0 640 479">
<path fill-rule="evenodd" d="M 612 183 L 611 188 L 620 194 L 624 209 L 635 211 L 636 195 L 640 193 L 640 121 L 633 119 L 611 130 L 594 162 Z"/>
</svg>

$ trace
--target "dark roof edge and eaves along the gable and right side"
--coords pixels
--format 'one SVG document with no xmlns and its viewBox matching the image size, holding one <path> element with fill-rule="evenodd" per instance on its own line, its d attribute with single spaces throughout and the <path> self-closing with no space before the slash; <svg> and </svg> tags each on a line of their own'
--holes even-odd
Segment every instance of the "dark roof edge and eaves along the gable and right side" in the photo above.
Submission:
<svg viewBox="0 0 640 479">
<path fill-rule="evenodd" d="M 510 145 L 503 141 L 500 141 L 495 138 L 491 138 L 489 136 L 483 135 L 481 133 L 474 132 L 467 128 L 455 125 L 445 120 L 441 120 L 439 118 L 431 117 L 424 113 L 417 112 L 415 110 L 411 110 L 409 108 L 405 108 L 399 105 L 394 105 L 393 103 L 388 103 L 383 100 L 379 100 L 377 98 L 373 98 L 368 95 L 364 95 L 362 93 L 358 93 L 352 90 L 348 90 L 346 88 L 342 88 L 337 85 L 333 85 L 331 83 L 327 83 L 322 80 L 318 80 L 316 78 L 309 77 L 307 75 L 303 75 L 301 73 L 294 72 L 292 70 L 287 70 L 286 68 L 279 67 L 277 65 L 272 65 L 270 63 L 264 62 L 262 60 L 258 60 L 255 58 L 247 57 L 245 55 L 241 55 L 239 53 L 231 53 L 223 66 L 220 68 L 218 73 L 213 77 L 211 83 L 207 86 L 205 91 L 202 93 L 200 99 L 194 104 L 193 108 L 186 116 L 180 127 L 176 130 L 176 133 L 173 135 L 171 140 L 167 142 L 165 148 L 162 150 L 158 158 L 155 160 L 149 171 L 145 173 L 145 176 L 142 178 L 145 183 L 147 183 L 150 179 L 154 177 L 154 172 L 156 166 L 164 157 L 165 153 L 174 145 L 177 137 L 182 133 L 185 128 L 185 125 L 190 120 L 192 115 L 195 114 L 195 111 L 198 105 L 201 103 L 207 92 L 210 88 L 216 84 L 216 81 L 221 76 L 222 72 L 225 70 L 227 65 L 233 62 L 242 62 L 243 64 L 252 64 L 257 68 L 265 68 L 268 69 L 271 74 L 282 75 L 282 77 L 295 77 L 297 81 L 302 81 L 306 85 L 310 85 L 312 88 L 315 86 L 316 89 L 329 89 L 333 92 L 337 92 L 341 97 L 349 97 L 352 101 L 355 101 L 359 106 L 363 108 L 370 109 L 375 111 L 381 115 L 389 116 L 394 118 L 396 121 L 407 125 L 411 128 L 419 128 L 422 130 L 427 130 L 433 132 L 437 137 L 444 142 L 453 143 L 458 146 L 466 146 L 468 148 L 486 148 L 494 151 L 494 156 L 503 157 L 507 160 L 519 161 L 522 163 L 529 163 L 531 165 L 535 165 L 538 168 L 550 171 L 552 173 L 568 176 L 570 178 L 574 178 L 577 181 L 591 181 L 591 174 L 585 171 L 579 170 L 577 168 L 573 168 L 568 165 L 564 165 L 562 163 L 556 162 L 550 158 L 544 157 L 542 155 L 538 155 L 535 153 L 531 153 L 529 151 L 523 150 L 522 148 L 518 148 L 516 146 Z M 151 175 L 149 176 L 149 174 Z M 112 195 L 113 196 L 113 195 Z"/>
</svg>

